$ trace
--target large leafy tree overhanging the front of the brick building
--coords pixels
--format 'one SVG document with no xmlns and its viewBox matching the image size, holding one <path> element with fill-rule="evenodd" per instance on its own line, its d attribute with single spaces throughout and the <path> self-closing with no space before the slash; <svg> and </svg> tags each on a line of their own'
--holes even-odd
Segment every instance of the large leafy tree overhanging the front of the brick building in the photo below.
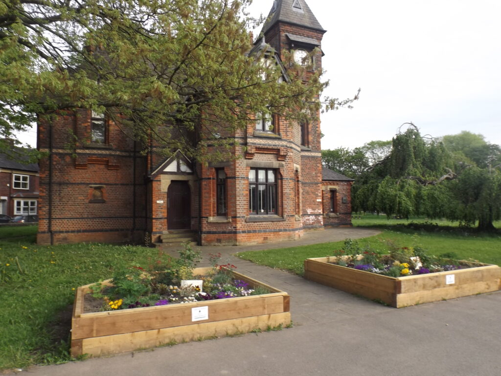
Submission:
<svg viewBox="0 0 501 376">
<path fill-rule="evenodd" d="M 197 160 L 258 113 L 315 116 L 322 72 L 283 72 L 246 32 L 250 0 L 0 0 L 0 138 L 89 108 L 128 136 Z M 273 64 L 268 64 L 267 61 Z M 351 100 L 327 99 L 328 108 Z M 166 131 L 165 124 L 170 129 Z M 221 136 L 222 135 L 222 136 Z M 200 140 L 198 140 L 200 141 Z M 3 150 L 2 150 L 3 149 Z M 0 151 L 8 150 L 0 142 Z"/>
</svg>

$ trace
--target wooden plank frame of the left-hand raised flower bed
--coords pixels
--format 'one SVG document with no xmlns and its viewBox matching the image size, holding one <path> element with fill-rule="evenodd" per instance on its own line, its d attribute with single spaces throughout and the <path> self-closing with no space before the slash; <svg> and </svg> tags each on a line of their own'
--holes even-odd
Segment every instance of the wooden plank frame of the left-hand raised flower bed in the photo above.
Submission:
<svg viewBox="0 0 501 376">
<path fill-rule="evenodd" d="M 194 274 L 203 275 L 209 270 L 196 268 Z M 232 273 L 235 279 L 272 293 L 86 313 L 84 295 L 91 284 L 79 287 L 73 307 L 72 356 L 114 354 L 290 324 L 290 296 L 286 292 Z"/>
</svg>

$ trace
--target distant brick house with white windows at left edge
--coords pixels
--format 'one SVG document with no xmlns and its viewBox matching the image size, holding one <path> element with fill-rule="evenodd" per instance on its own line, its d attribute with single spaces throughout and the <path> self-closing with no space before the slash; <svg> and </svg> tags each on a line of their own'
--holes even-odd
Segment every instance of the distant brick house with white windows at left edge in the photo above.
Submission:
<svg viewBox="0 0 501 376">
<path fill-rule="evenodd" d="M 0 214 L 38 214 L 39 179 L 37 163 L 23 163 L 0 154 Z"/>
</svg>

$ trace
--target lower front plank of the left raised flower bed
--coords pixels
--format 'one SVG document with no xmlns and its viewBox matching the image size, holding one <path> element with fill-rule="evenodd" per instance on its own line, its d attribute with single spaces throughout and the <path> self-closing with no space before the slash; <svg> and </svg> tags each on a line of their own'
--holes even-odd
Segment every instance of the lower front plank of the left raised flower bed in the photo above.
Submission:
<svg viewBox="0 0 501 376">
<path fill-rule="evenodd" d="M 73 347 L 72 355 L 86 353 L 92 356 L 133 351 L 139 348 L 160 346 L 169 342 L 185 342 L 207 337 L 220 337 L 245 333 L 254 329 L 266 330 L 269 326 L 289 325 L 290 312 L 273 313 L 254 317 L 243 317 L 217 322 L 204 322 L 183 327 L 161 328 L 132 333 L 116 334 L 83 340 L 81 348 Z M 81 351 L 81 352 L 79 352 Z"/>
</svg>

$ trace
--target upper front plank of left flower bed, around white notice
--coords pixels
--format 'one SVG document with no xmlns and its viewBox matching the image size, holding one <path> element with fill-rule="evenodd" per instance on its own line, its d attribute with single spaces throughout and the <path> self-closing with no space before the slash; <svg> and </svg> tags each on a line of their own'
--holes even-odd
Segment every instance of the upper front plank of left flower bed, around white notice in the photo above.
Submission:
<svg viewBox="0 0 501 376">
<path fill-rule="evenodd" d="M 83 314 L 74 318 L 72 339 L 192 324 L 191 309 L 208 306 L 208 320 L 282 313 L 286 293 Z"/>
</svg>

